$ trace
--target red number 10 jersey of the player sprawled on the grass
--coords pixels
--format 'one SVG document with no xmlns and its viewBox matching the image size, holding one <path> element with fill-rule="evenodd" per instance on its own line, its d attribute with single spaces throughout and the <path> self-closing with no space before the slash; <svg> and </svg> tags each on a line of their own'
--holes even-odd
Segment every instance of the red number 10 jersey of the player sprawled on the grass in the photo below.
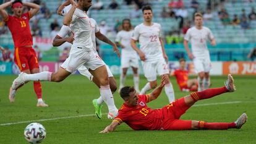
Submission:
<svg viewBox="0 0 256 144">
<path fill-rule="evenodd" d="M 123 104 L 118 111 L 114 121 L 121 124 L 125 122 L 134 130 L 160 130 L 163 126 L 162 109 L 148 108 L 150 95 L 138 95 L 138 106 L 127 106 Z"/>
</svg>

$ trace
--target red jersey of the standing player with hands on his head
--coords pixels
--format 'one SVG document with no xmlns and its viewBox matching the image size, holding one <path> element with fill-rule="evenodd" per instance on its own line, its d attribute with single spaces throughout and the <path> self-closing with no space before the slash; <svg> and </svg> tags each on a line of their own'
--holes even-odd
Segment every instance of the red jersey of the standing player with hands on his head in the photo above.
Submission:
<svg viewBox="0 0 256 144">
<path fill-rule="evenodd" d="M 9 30 L 12 33 L 12 39 L 14 40 L 15 48 L 33 45 L 33 38 L 30 32 L 29 20 L 29 12 L 22 14 L 21 18 L 8 15 L 8 19 L 5 20 Z"/>
</svg>

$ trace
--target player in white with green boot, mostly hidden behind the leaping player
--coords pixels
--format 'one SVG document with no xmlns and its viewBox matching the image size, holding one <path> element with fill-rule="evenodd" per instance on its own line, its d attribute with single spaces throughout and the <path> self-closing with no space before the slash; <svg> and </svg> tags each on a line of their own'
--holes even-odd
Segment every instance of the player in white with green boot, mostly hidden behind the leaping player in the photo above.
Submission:
<svg viewBox="0 0 256 144">
<path fill-rule="evenodd" d="M 65 6 L 67 6 L 67 7 L 65 7 Z M 71 8 L 70 6 L 72 7 L 72 5 L 70 4 L 70 1 L 64 2 L 63 4 L 61 4 L 61 6 L 59 6 L 58 14 L 62 15 L 62 16 L 66 15 L 67 12 Z M 105 35 L 103 35 L 100 32 L 100 29 L 94 19 L 90 18 L 90 23 L 92 26 L 93 52 L 95 53 L 96 56 L 99 56 L 98 52 L 96 51 L 96 38 L 117 48 L 115 43 L 110 41 Z M 67 35 L 69 35 L 69 37 L 66 38 Z M 61 30 L 59 31 L 59 33 L 55 36 L 55 38 L 53 40 L 53 46 L 60 46 L 61 44 L 65 43 L 65 42 L 73 43 L 73 41 L 74 41 L 74 35 L 72 34 L 70 27 L 66 26 L 66 25 L 62 25 Z M 66 63 L 64 62 L 64 64 L 62 64 L 62 67 L 67 67 L 67 62 Z M 117 89 L 116 80 L 114 80 L 114 76 L 107 65 L 106 65 L 106 68 L 108 70 L 109 86 L 110 86 L 112 93 L 114 93 Z M 95 83 L 98 86 L 98 88 L 100 88 L 99 80 L 97 78 L 93 77 L 93 75 L 89 72 L 89 70 L 85 66 L 79 67 L 78 70 L 79 70 L 80 74 L 87 77 L 89 80 L 91 80 L 93 83 Z M 102 117 L 101 108 L 103 106 L 102 105 L 103 102 L 104 101 L 103 101 L 102 96 L 100 96 L 98 99 L 93 100 L 93 106 L 95 107 L 95 114 L 99 119 L 101 119 L 101 117 Z"/>
</svg>

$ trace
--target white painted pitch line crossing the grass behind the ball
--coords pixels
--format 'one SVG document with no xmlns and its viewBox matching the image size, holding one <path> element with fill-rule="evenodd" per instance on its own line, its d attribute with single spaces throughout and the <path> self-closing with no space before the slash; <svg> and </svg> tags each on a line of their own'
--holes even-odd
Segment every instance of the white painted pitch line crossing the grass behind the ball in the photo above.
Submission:
<svg viewBox="0 0 256 144">
<path fill-rule="evenodd" d="M 227 101 L 227 102 L 223 102 L 223 103 L 196 104 L 194 106 L 211 106 L 211 105 L 218 105 L 218 104 L 234 104 L 234 103 L 242 103 L 242 101 Z M 56 117 L 56 118 L 52 118 L 52 119 L 38 119 L 38 120 L 31 120 L 31 121 L 10 122 L 10 123 L 6 123 L 6 124 L 0 124 L 0 126 L 24 124 L 24 123 L 30 123 L 30 122 L 54 121 L 54 120 L 58 120 L 58 119 L 73 119 L 73 118 L 77 118 L 77 117 L 88 117 L 88 116 L 95 116 L 95 114 L 83 114 L 83 115 L 79 115 L 79 116 Z"/>
</svg>

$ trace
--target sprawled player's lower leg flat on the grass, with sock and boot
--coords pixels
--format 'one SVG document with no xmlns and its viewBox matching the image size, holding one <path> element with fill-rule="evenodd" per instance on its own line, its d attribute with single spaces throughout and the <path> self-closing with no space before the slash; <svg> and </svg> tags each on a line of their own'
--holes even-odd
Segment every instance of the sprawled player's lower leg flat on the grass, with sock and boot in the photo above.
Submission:
<svg viewBox="0 0 256 144">
<path fill-rule="evenodd" d="M 242 125 L 247 122 L 247 115 L 243 113 L 235 122 L 204 122 L 199 121 L 196 124 L 192 121 L 195 129 L 208 129 L 208 130 L 226 130 L 226 129 L 241 129 Z"/>
</svg>

